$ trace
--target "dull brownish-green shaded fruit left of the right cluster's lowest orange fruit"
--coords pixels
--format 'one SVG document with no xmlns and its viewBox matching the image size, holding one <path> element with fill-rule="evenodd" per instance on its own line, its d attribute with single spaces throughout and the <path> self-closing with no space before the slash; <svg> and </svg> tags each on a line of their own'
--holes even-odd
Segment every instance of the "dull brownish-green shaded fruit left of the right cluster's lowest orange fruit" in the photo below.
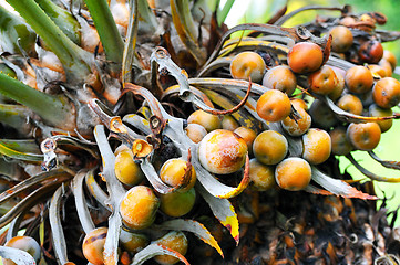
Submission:
<svg viewBox="0 0 400 265">
<path fill-rule="evenodd" d="M 274 167 L 264 165 L 256 158 L 252 158 L 249 169 L 249 177 L 256 190 L 266 191 L 276 186 Z"/>
</svg>

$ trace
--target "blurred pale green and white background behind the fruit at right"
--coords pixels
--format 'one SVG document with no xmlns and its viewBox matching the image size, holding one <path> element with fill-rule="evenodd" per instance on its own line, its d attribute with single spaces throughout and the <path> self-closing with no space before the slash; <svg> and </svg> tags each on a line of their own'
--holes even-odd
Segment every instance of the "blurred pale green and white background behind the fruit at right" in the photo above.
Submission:
<svg viewBox="0 0 400 265">
<path fill-rule="evenodd" d="M 228 1 L 220 1 L 220 7 Z M 279 9 L 285 6 L 286 1 L 277 0 L 236 0 L 233 1 L 232 10 L 228 13 L 225 22 L 228 26 L 233 26 L 243 22 L 259 22 L 265 23 L 268 19 Z M 388 22 L 384 25 L 380 25 L 379 29 L 400 31 L 400 0 L 355 0 L 355 1 L 340 1 L 340 0 L 290 0 L 288 1 L 288 11 L 296 10 L 304 6 L 317 4 L 317 6 L 331 6 L 342 7 L 343 4 L 350 4 L 353 13 L 362 13 L 370 11 L 382 12 L 388 18 Z M 309 22 L 316 18 L 316 15 L 340 15 L 339 12 L 332 11 L 305 11 L 301 12 L 289 21 L 284 26 L 297 25 L 300 23 Z M 398 64 L 400 64 L 400 41 L 383 44 L 386 50 L 390 50 L 396 54 Z M 399 80 L 399 76 L 396 76 Z M 400 108 L 393 109 L 400 113 Z M 400 120 L 394 120 L 393 127 L 382 134 L 379 146 L 375 149 L 376 153 L 386 160 L 400 160 Z M 399 176 L 400 171 L 387 169 L 372 160 L 368 153 L 363 151 L 355 151 L 355 158 L 368 170 L 380 176 Z M 347 170 L 355 179 L 367 180 L 366 177 L 360 173 L 346 158 L 340 159 L 341 171 Z M 400 183 L 383 183 L 375 181 L 376 192 L 379 198 L 388 198 L 389 211 L 396 211 L 400 206 Z M 378 206 L 381 204 L 381 200 L 378 201 Z M 391 219 L 391 216 L 389 216 Z M 396 221 L 396 225 L 400 225 L 400 218 Z"/>
</svg>

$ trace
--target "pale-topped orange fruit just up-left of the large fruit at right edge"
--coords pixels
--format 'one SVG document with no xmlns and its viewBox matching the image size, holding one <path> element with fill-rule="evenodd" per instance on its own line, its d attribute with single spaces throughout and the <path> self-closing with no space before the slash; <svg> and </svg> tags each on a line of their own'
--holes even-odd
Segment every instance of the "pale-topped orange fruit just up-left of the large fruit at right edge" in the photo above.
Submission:
<svg viewBox="0 0 400 265">
<path fill-rule="evenodd" d="M 367 93 L 373 85 L 373 76 L 368 68 L 357 65 L 346 71 L 345 82 L 347 88 L 352 93 Z"/>
</svg>

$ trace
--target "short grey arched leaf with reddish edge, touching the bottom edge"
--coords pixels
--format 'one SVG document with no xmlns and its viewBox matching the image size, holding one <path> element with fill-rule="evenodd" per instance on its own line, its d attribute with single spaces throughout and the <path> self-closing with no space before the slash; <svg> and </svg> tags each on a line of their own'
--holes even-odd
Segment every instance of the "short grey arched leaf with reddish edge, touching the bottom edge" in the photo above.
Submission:
<svg viewBox="0 0 400 265">
<path fill-rule="evenodd" d="M 183 255 L 181 255 L 178 252 L 156 243 L 152 243 L 148 246 L 144 247 L 142 251 L 137 252 L 134 255 L 131 265 L 141 265 L 144 262 L 157 255 L 170 255 L 178 258 L 181 262 L 183 262 L 186 265 L 191 265 L 186 261 L 186 258 Z"/>
</svg>

